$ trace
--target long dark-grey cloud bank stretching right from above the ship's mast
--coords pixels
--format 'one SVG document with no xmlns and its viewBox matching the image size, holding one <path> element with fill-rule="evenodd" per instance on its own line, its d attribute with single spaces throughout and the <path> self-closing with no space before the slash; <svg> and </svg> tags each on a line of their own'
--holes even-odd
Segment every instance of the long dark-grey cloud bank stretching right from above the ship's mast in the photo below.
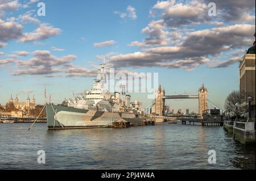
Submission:
<svg viewBox="0 0 256 181">
<path fill-rule="evenodd" d="M 191 70 L 207 64 L 208 56 L 216 56 L 230 49 L 250 46 L 254 39 L 255 25 L 236 24 L 195 32 L 188 32 L 183 42 L 177 46 L 162 46 L 143 49 L 142 52 L 118 54 L 109 58 L 115 67 L 152 67 L 181 68 Z M 180 37 L 174 33 L 173 37 Z M 135 43 L 140 44 L 138 41 Z M 144 43 L 144 41 L 143 41 Z M 236 60 L 221 63 L 216 68 L 231 65 Z"/>
</svg>

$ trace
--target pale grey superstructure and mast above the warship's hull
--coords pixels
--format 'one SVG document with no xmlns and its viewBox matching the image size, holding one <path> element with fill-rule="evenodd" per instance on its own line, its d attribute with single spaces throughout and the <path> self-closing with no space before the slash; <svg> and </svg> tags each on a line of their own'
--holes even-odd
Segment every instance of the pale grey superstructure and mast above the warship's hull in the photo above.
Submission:
<svg viewBox="0 0 256 181">
<path fill-rule="evenodd" d="M 73 94 L 73 98 L 65 99 L 68 107 L 100 110 L 100 111 L 133 111 L 142 112 L 142 105 L 137 100 L 131 102 L 131 96 L 126 95 L 125 85 L 122 85 L 122 94 L 110 93 L 108 90 L 108 75 L 106 64 L 100 64 L 93 87 L 80 94 Z"/>
</svg>

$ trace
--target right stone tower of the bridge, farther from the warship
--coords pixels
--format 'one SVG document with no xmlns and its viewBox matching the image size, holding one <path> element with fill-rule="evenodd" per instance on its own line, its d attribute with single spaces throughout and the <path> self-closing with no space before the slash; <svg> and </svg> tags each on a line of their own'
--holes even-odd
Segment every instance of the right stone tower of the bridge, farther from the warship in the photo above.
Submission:
<svg viewBox="0 0 256 181">
<path fill-rule="evenodd" d="M 208 90 L 207 88 L 203 85 L 199 87 L 199 116 L 202 116 L 203 111 L 207 110 L 207 99 L 208 99 Z"/>
</svg>

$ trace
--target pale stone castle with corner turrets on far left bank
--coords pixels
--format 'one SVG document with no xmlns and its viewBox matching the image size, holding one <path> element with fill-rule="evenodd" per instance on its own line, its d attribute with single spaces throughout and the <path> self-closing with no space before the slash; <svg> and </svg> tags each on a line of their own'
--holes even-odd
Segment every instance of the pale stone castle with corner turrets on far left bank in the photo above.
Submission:
<svg viewBox="0 0 256 181">
<path fill-rule="evenodd" d="M 32 102 L 30 102 L 30 97 L 27 96 L 26 102 L 19 102 L 18 95 L 16 95 L 16 98 L 13 100 L 13 96 L 11 95 L 11 98 L 9 99 L 9 105 L 14 104 L 14 107 L 16 110 L 35 110 L 35 97 L 33 96 Z"/>
</svg>

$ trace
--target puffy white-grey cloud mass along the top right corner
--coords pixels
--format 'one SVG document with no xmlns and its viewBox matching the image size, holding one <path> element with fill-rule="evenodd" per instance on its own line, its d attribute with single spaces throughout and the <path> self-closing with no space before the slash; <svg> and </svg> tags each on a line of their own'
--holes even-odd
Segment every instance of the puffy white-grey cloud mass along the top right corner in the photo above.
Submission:
<svg viewBox="0 0 256 181">
<path fill-rule="evenodd" d="M 160 11 L 161 18 L 168 27 L 180 27 L 201 23 L 224 26 L 225 22 L 255 22 L 255 1 L 227 0 L 214 1 L 217 5 L 217 16 L 208 15 L 208 3 L 211 0 L 194 1 L 158 1 L 150 10 L 151 14 Z M 221 22 L 220 22 L 221 20 Z"/>
</svg>

